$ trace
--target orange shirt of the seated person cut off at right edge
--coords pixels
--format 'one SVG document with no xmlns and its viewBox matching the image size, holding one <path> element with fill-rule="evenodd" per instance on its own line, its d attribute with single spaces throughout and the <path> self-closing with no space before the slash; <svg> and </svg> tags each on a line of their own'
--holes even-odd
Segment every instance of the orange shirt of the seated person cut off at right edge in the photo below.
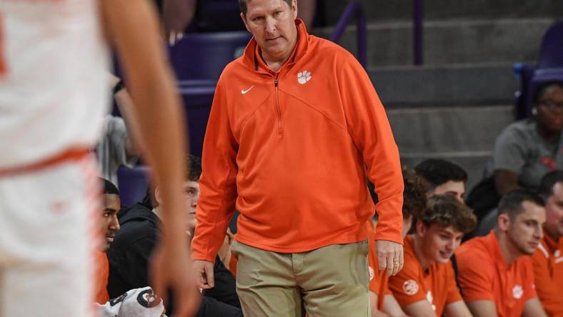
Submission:
<svg viewBox="0 0 563 317">
<path fill-rule="evenodd" d="M 532 263 L 539 301 L 549 316 L 563 317 L 563 238 L 554 241 L 544 231 Z"/>
</svg>

